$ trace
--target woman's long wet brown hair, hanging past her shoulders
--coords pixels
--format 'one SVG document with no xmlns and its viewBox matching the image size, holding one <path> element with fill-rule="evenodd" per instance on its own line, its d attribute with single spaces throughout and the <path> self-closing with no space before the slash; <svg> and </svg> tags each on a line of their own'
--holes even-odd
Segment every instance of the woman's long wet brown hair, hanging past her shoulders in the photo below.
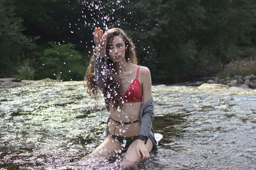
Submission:
<svg viewBox="0 0 256 170">
<path fill-rule="evenodd" d="M 132 43 L 131 39 L 125 34 L 122 29 L 113 28 L 107 31 L 107 46 L 106 46 L 106 55 L 107 55 L 107 69 L 106 69 L 106 85 L 105 90 L 107 94 L 111 96 L 111 103 L 110 106 L 113 106 L 115 110 L 118 107 L 122 106 L 122 101 L 124 100 L 122 97 L 123 88 L 120 79 L 118 78 L 118 69 L 117 64 L 111 60 L 109 56 L 109 47 L 113 41 L 115 36 L 122 36 L 124 43 L 125 43 L 125 60 L 127 62 L 131 62 L 132 64 L 138 64 L 136 52 L 134 49 L 134 44 Z M 86 92 L 93 98 L 97 99 L 99 95 L 99 86 L 95 80 L 94 76 L 94 66 L 93 66 L 93 59 L 94 56 L 92 55 L 90 59 L 90 64 L 87 67 L 85 78 L 84 78 L 84 87 L 87 87 Z"/>
</svg>

